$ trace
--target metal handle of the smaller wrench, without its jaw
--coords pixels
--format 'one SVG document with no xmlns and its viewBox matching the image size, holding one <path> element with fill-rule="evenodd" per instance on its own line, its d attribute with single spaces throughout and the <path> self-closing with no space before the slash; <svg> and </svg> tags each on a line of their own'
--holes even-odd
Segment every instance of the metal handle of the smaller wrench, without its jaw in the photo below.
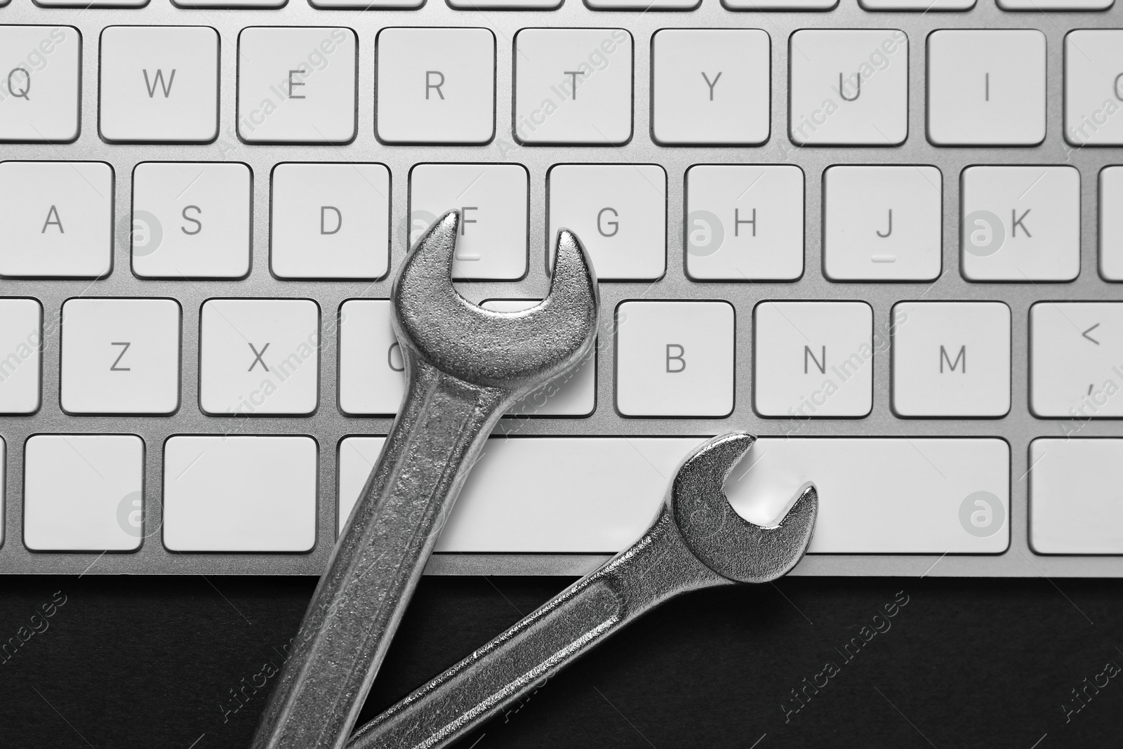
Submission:
<svg viewBox="0 0 1123 749">
<path fill-rule="evenodd" d="M 664 505 L 634 546 L 366 723 L 347 749 L 447 746 L 663 601 L 723 583 L 682 544 Z"/>
</svg>

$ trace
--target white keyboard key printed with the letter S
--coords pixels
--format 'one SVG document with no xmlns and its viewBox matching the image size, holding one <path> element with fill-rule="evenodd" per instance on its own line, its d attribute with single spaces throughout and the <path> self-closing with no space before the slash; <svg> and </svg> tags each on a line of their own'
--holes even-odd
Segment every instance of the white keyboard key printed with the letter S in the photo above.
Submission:
<svg viewBox="0 0 1123 749">
<path fill-rule="evenodd" d="M 249 273 L 249 167 L 145 162 L 133 170 L 133 272 L 149 278 Z"/>
</svg>

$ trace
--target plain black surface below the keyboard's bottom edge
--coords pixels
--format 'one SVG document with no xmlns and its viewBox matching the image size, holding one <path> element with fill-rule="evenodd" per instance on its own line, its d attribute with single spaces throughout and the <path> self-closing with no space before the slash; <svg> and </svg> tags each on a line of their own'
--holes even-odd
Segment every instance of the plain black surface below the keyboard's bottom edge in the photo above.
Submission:
<svg viewBox="0 0 1123 749">
<path fill-rule="evenodd" d="M 363 720 L 569 582 L 423 578 Z M 248 747 L 272 681 L 240 706 L 230 691 L 282 663 L 314 585 L 0 577 L 0 641 L 56 591 L 66 600 L 0 658 L 0 747 Z M 888 631 L 843 660 L 836 648 L 903 596 Z M 1108 660 L 1123 666 L 1120 648 L 1123 581 L 787 577 L 681 596 L 457 747 L 1120 747 L 1123 674 L 1062 709 Z M 785 720 L 827 660 L 839 673 Z"/>
</svg>

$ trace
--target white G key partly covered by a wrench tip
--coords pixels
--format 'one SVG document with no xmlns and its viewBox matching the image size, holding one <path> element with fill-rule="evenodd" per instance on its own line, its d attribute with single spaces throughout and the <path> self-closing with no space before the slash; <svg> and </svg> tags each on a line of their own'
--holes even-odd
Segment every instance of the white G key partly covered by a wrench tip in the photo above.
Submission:
<svg viewBox="0 0 1123 749">
<path fill-rule="evenodd" d="M 560 228 L 578 237 L 599 281 L 658 278 L 667 268 L 667 173 L 656 164 L 562 164 L 547 175 L 547 267 Z"/>
</svg>

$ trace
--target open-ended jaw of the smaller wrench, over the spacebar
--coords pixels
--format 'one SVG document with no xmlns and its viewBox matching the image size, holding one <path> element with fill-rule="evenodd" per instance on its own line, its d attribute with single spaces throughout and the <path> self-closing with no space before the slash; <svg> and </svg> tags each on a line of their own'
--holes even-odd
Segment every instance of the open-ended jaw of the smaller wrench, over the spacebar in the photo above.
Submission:
<svg viewBox="0 0 1123 749">
<path fill-rule="evenodd" d="M 755 441 L 752 435 L 733 432 L 705 442 L 683 463 L 667 499 L 686 547 L 710 569 L 739 583 L 767 583 L 795 567 L 819 512 L 819 493 L 809 482 L 775 526 L 737 514 L 722 485 Z"/>
</svg>

